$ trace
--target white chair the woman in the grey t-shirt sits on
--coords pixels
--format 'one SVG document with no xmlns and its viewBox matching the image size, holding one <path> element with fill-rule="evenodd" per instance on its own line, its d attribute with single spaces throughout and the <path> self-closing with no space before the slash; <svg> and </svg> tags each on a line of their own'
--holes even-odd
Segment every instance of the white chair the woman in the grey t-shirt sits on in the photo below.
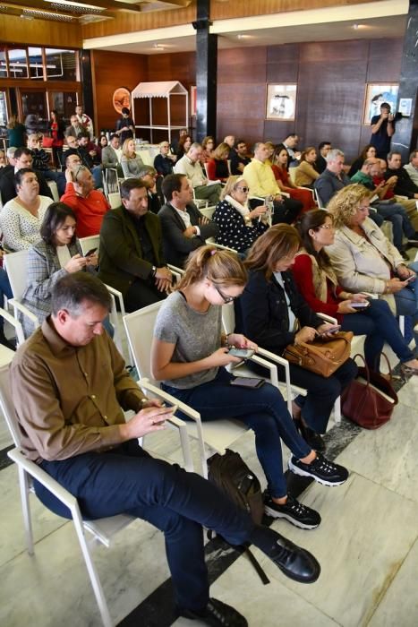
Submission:
<svg viewBox="0 0 418 627">
<path fill-rule="evenodd" d="M 133 360 L 141 377 L 146 377 L 154 385 L 159 383 L 152 377 L 150 371 L 149 355 L 151 351 L 152 338 L 154 333 L 154 324 L 157 318 L 158 310 L 161 303 L 155 303 L 148 307 L 143 307 L 137 312 L 124 316 L 124 326 L 126 335 L 128 336 L 129 346 L 132 351 Z M 276 366 L 270 364 L 260 357 L 254 357 L 260 365 L 268 368 L 270 372 L 276 371 Z M 189 418 L 192 419 L 188 423 L 189 434 L 197 438 L 200 453 L 200 468 L 203 477 L 208 477 L 207 462 L 211 452 L 206 451 L 209 447 L 211 451 L 225 452 L 226 448 L 244 434 L 248 427 L 238 420 L 226 419 L 216 420 L 201 425 L 200 414 L 194 409 L 188 407 L 177 399 L 173 399 L 166 392 L 160 391 L 161 396 L 166 395 L 166 399 L 170 403 L 176 403 L 179 409 Z"/>
</svg>

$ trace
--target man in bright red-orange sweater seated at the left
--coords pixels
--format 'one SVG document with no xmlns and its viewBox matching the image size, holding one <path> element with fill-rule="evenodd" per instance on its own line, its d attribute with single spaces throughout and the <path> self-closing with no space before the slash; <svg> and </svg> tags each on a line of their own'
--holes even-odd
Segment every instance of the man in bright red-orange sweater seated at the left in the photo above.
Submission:
<svg viewBox="0 0 418 627">
<path fill-rule="evenodd" d="M 98 235 L 103 218 L 110 209 L 106 196 L 94 189 L 93 176 L 87 167 L 67 167 L 65 179 L 67 185 L 61 202 L 69 205 L 77 216 L 77 236 Z"/>
</svg>

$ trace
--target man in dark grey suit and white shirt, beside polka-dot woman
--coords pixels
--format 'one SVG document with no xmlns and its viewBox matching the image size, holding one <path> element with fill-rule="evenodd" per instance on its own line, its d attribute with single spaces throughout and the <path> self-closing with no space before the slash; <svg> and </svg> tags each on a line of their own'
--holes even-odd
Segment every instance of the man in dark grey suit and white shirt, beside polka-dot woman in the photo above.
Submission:
<svg viewBox="0 0 418 627">
<path fill-rule="evenodd" d="M 163 231 L 163 251 L 168 263 L 183 268 L 192 251 L 218 235 L 218 225 L 205 218 L 192 203 L 189 180 L 183 174 L 165 177 L 162 185 L 166 204 L 158 218 Z"/>
</svg>

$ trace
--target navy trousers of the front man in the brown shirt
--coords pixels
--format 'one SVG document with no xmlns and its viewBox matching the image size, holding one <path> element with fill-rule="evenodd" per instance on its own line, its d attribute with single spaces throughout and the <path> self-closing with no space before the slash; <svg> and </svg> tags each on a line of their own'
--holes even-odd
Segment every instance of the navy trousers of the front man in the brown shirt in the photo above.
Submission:
<svg viewBox="0 0 418 627">
<path fill-rule="evenodd" d="M 209 600 L 202 526 L 232 545 L 248 541 L 254 527 L 247 512 L 215 485 L 177 465 L 154 460 L 136 440 L 103 453 L 43 460 L 40 466 L 77 498 L 85 519 L 127 513 L 163 531 L 175 600 L 187 609 L 200 610 Z M 50 510 L 68 516 L 42 485 L 36 483 L 35 489 Z"/>
</svg>

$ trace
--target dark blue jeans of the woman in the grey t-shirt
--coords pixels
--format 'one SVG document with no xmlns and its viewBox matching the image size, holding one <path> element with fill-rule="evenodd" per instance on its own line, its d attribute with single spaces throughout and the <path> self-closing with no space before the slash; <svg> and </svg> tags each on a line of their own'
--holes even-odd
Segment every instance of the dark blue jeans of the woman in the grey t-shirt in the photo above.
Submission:
<svg viewBox="0 0 418 627">
<path fill-rule="evenodd" d="M 277 388 L 269 383 L 256 390 L 234 387 L 229 384 L 233 378 L 234 375 L 225 368 L 219 368 L 213 381 L 189 390 L 180 390 L 164 383 L 161 387 L 198 411 L 203 422 L 237 418 L 248 425 L 255 434 L 255 448 L 267 478 L 269 494 L 277 498 L 286 496 L 281 440 L 299 459 L 306 457 L 311 447 L 297 433 Z"/>
</svg>

